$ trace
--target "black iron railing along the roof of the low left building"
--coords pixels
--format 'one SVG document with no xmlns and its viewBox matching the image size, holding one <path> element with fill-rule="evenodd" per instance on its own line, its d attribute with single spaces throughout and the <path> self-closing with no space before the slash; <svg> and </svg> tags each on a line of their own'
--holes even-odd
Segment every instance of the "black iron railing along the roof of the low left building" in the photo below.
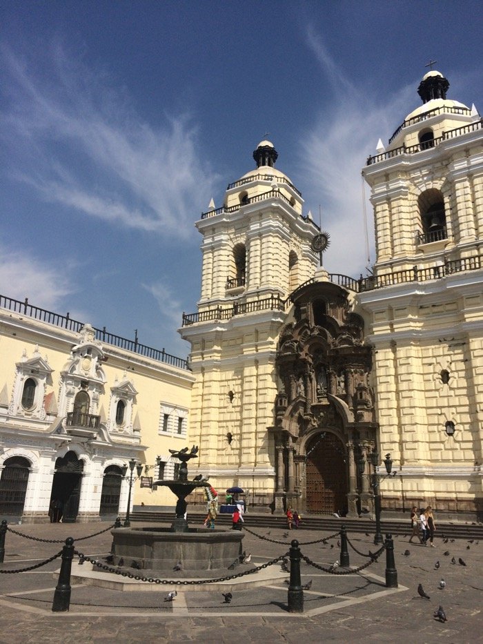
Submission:
<svg viewBox="0 0 483 644">
<path fill-rule="evenodd" d="M 12 297 L 0 295 L 0 307 L 2 309 L 7 309 L 8 311 L 21 313 L 21 315 L 28 315 L 29 318 L 34 318 L 34 320 L 41 320 L 41 322 L 47 322 L 47 324 L 59 326 L 62 329 L 68 329 L 68 331 L 73 331 L 74 333 L 79 333 L 85 324 L 85 322 L 79 322 L 79 320 L 73 320 L 70 318 L 69 313 L 66 315 L 60 315 L 59 313 L 53 313 L 47 309 L 40 309 L 39 306 L 32 306 L 32 304 L 28 303 L 28 297 L 21 302 L 20 300 L 14 300 Z M 188 369 L 188 362 L 186 359 L 177 358 L 176 355 L 166 353 L 164 349 L 161 349 L 160 351 L 159 349 L 153 349 L 153 347 L 148 347 L 146 344 L 138 342 L 137 331 L 135 339 L 129 340 L 128 338 L 123 338 L 121 335 L 109 333 L 106 331 L 105 326 L 103 326 L 102 329 L 97 329 L 96 327 L 93 327 L 93 329 L 95 331 L 96 340 L 100 340 L 105 344 L 112 344 L 113 347 L 119 347 L 119 349 L 125 349 L 126 351 L 132 351 L 132 353 L 144 355 L 145 358 L 165 362 L 166 364 L 170 364 L 171 367 Z"/>
</svg>

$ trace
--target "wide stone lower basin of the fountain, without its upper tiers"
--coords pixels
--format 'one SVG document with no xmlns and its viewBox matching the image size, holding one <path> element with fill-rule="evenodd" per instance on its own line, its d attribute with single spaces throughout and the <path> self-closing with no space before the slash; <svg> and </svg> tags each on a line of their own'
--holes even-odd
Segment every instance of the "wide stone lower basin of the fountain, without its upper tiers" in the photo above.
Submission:
<svg viewBox="0 0 483 644">
<path fill-rule="evenodd" d="M 170 528 L 115 528 L 114 563 L 124 558 L 124 567 L 132 561 L 141 570 L 170 572 L 181 561 L 179 576 L 197 571 L 226 572 L 242 554 L 244 534 L 239 530 L 208 530 L 190 528 L 173 532 Z"/>
</svg>

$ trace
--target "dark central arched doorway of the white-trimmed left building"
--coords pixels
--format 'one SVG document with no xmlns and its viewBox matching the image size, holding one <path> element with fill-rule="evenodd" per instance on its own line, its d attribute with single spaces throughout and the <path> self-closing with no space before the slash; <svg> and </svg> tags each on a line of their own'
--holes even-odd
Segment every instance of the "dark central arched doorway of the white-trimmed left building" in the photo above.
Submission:
<svg viewBox="0 0 483 644">
<path fill-rule="evenodd" d="M 83 462 L 73 451 L 68 451 L 66 456 L 55 461 L 50 508 L 57 510 L 57 521 L 62 519 L 63 523 L 75 523 L 79 512 L 82 472 Z"/>
</svg>

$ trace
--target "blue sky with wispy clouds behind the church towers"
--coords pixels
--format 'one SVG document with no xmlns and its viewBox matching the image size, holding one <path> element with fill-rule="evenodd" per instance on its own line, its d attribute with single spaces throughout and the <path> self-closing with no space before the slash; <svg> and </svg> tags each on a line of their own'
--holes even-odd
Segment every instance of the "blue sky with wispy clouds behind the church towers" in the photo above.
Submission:
<svg viewBox="0 0 483 644">
<path fill-rule="evenodd" d="M 360 171 L 420 104 L 483 111 L 476 1 L 3 0 L 0 293 L 175 355 L 196 311 L 194 222 L 266 137 L 331 233 L 329 272 L 374 261 Z M 366 191 L 368 194 L 368 191 Z"/>
</svg>

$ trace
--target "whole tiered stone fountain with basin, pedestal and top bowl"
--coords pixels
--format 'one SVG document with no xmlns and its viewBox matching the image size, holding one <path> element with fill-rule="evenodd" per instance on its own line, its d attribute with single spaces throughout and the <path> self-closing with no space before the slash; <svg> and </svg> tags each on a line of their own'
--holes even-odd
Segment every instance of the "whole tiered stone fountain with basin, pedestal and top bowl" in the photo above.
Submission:
<svg viewBox="0 0 483 644">
<path fill-rule="evenodd" d="M 188 480 L 188 460 L 197 458 L 198 447 L 179 451 L 170 449 L 181 461 L 177 480 L 159 480 L 155 485 L 169 487 L 177 496 L 175 520 L 170 528 L 117 528 L 112 530 L 114 563 L 124 559 L 124 566 L 135 563 L 136 569 L 152 575 L 170 572 L 177 576 L 217 576 L 242 554 L 242 531 L 190 528 L 186 521 L 186 496 L 197 487 L 209 487 L 204 480 Z M 181 571 L 173 572 L 181 563 Z"/>
</svg>

